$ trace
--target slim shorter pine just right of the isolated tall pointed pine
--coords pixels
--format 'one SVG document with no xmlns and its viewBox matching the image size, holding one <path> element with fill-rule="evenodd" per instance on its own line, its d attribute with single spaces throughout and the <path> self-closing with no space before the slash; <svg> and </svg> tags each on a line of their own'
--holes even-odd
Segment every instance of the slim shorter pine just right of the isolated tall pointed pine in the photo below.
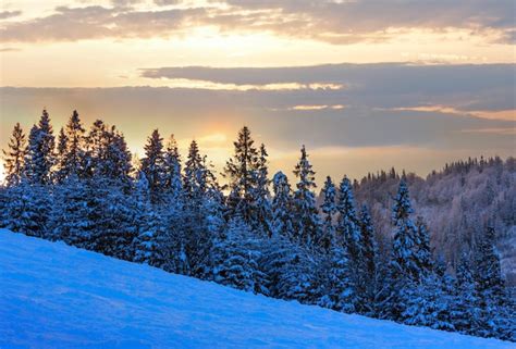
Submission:
<svg viewBox="0 0 516 349">
<path fill-rule="evenodd" d="M 321 212 L 324 214 L 322 222 L 322 237 L 318 245 L 322 247 L 323 250 L 328 251 L 333 245 L 335 238 L 335 224 L 334 219 L 336 216 L 336 190 L 335 185 L 330 176 L 327 176 L 324 182 L 324 187 L 321 190 L 323 201 L 321 204 Z"/>
</svg>

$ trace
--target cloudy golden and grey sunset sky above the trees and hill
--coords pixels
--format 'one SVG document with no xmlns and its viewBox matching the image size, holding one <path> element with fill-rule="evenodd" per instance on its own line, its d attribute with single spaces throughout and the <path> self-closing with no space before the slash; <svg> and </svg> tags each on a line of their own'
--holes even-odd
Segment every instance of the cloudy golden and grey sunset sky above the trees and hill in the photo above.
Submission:
<svg viewBox="0 0 516 349">
<path fill-rule="evenodd" d="M 198 140 L 216 169 L 248 125 L 271 172 L 304 144 L 317 182 L 516 155 L 514 1 L 0 3 L 0 147 L 47 108 Z M 1 176 L 1 175 L 0 175 Z"/>
</svg>

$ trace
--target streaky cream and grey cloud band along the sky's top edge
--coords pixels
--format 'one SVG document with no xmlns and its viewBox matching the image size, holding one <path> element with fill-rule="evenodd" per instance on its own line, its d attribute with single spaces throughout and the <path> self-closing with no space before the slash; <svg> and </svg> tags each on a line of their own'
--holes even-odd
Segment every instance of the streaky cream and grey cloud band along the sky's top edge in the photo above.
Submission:
<svg viewBox="0 0 516 349">
<path fill-rule="evenodd" d="M 155 0 L 157 9 L 126 7 L 138 0 L 113 0 L 115 8 L 57 8 L 54 14 L 10 23 L 4 41 L 81 40 L 99 37 L 163 37 L 192 26 L 212 26 L 220 33 L 271 33 L 335 45 L 390 40 L 413 29 L 490 36 L 514 42 L 511 0 L 482 1 L 211 1 L 181 9 L 162 9 L 176 0 Z M 71 26 L 73 34 L 63 30 Z"/>
</svg>

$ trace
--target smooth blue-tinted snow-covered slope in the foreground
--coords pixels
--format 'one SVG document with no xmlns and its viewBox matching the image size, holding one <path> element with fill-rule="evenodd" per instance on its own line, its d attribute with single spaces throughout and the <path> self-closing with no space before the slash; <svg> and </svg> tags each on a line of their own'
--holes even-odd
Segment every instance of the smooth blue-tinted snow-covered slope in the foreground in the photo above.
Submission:
<svg viewBox="0 0 516 349">
<path fill-rule="evenodd" d="M 0 348 L 515 348 L 254 296 L 0 230 Z"/>
</svg>

